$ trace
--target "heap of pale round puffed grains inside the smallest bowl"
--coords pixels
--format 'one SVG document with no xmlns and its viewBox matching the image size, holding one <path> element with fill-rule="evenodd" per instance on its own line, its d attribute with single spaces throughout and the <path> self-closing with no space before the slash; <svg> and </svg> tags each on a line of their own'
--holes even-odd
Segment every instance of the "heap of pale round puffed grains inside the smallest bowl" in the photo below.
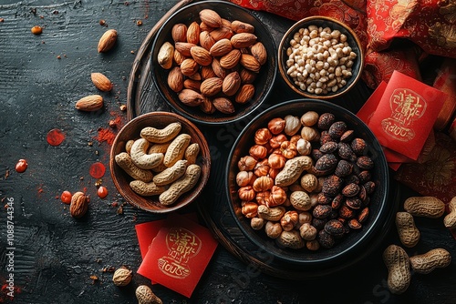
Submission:
<svg viewBox="0 0 456 304">
<path fill-rule="evenodd" d="M 300 90 L 316 95 L 336 93 L 346 86 L 357 58 L 347 35 L 316 25 L 295 33 L 286 56 L 286 74 Z"/>
</svg>

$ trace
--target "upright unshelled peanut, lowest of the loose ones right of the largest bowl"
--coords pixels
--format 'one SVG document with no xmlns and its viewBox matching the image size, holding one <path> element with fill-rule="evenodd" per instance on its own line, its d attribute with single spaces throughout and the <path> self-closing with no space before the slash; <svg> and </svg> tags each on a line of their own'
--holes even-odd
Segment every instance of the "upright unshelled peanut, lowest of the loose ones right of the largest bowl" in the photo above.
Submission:
<svg viewBox="0 0 456 304">
<path fill-rule="evenodd" d="M 404 293 L 409 288 L 411 278 L 407 252 L 397 245 L 389 245 L 383 252 L 383 261 L 389 271 L 389 291 L 394 294 Z"/>
</svg>

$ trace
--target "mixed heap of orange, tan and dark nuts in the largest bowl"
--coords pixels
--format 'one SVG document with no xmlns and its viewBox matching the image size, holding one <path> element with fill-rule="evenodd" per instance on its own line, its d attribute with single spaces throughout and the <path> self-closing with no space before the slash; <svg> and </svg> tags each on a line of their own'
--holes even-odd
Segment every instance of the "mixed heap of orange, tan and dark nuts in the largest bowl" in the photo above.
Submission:
<svg viewBox="0 0 456 304">
<path fill-rule="evenodd" d="M 331 113 L 271 119 L 240 157 L 238 197 L 251 227 L 288 248 L 332 248 L 368 218 L 368 143 Z"/>
</svg>

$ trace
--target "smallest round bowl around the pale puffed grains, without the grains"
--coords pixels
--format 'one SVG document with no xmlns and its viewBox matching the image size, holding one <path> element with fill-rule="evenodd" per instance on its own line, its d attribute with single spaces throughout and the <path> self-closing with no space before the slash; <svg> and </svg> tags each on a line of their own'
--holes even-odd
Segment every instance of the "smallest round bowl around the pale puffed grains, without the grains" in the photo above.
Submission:
<svg viewBox="0 0 456 304">
<path fill-rule="evenodd" d="M 309 93 L 307 90 L 302 90 L 298 85 L 296 85 L 294 79 L 287 74 L 288 66 L 286 65 L 286 61 L 289 57 L 286 54 L 286 50 L 290 47 L 290 41 L 293 39 L 295 33 L 297 33 L 299 29 L 306 28 L 309 25 L 316 25 L 323 28 L 329 27 L 332 30 L 338 30 L 341 34 L 347 35 L 348 46 L 350 46 L 352 51 L 357 54 L 357 58 L 354 60 L 354 64 L 351 67 L 352 76 L 347 77 L 345 79 L 347 81 L 347 84 L 338 88 L 336 92 L 331 91 L 326 94 L 318 95 L 315 93 Z M 286 85 L 288 85 L 295 93 L 307 98 L 332 99 L 345 95 L 353 86 L 357 84 L 359 78 L 361 77 L 363 66 L 364 49 L 356 33 L 349 26 L 343 24 L 342 22 L 326 16 L 315 15 L 306 17 L 296 22 L 295 25 L 292 25 L 286 31 L 278 46 L 278 67 L 280 75 L 285 80 Z"/>
</svg>

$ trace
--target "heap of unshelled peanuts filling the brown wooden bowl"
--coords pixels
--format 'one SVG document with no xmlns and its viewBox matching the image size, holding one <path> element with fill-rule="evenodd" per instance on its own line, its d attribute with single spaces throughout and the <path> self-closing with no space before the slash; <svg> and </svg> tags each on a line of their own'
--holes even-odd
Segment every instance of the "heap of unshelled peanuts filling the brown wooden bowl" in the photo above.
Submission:
<svg viewBox="0 0 456 304">
<path fill-rule="evenodd" d="M 134 180 L 131 189 L 140 196 L 159 196 L 162 206 L 171 206 L 196 185 L 201 167 L 196 164 L 198 143 L 181 133 L 181 123 L 158 129 L 144 127 L 139 139 L 127 142 L 116 163 Z"/>
</svg>

